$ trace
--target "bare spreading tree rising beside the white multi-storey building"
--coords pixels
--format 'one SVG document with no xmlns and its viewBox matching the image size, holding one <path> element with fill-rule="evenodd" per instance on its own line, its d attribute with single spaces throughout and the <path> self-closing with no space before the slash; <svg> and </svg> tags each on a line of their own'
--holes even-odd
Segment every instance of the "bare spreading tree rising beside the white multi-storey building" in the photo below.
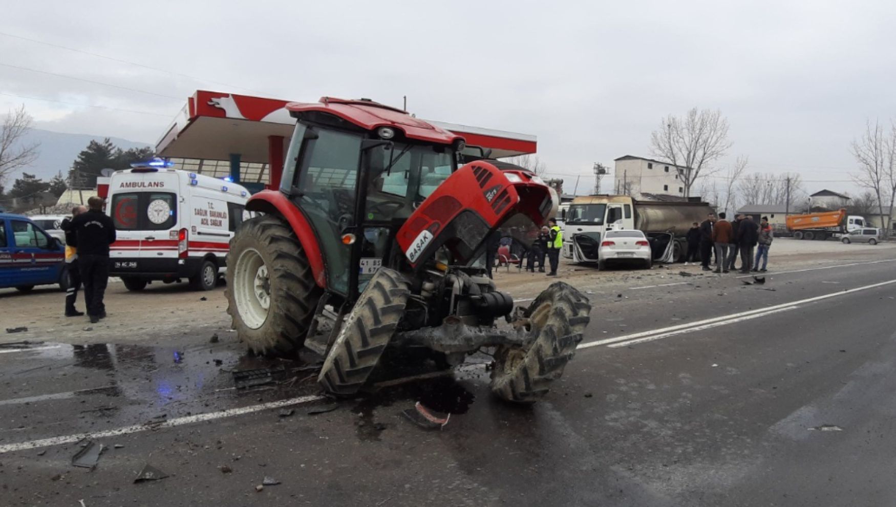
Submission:
<svg viewBox="0 0 896 507">
<path fill-rule="evenodd" d="M 719 110 L 694 107 L 684 117 L 666 116 L 650 134 L 652 153 L 682 169 L 685 197 L 690 197 L 697 178 L 714 172 L 709 166 L 730 147 L 728 120 Z"/>
</svg>

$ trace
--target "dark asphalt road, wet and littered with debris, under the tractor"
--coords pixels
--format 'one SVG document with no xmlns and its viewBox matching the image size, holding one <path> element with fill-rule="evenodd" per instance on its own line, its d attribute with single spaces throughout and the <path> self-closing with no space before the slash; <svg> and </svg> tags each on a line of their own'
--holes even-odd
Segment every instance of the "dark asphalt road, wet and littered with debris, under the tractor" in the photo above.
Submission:
<svg viewBox="0 0 896 507">
<path fill-rule="evenodd" d="M 582 287 L 585 339 L 533 407 L 491 398 L 482 365 L 308 415 L 330 401 L 307 365 L 246 357 L 228 336 L 6 344 L 2 503 L 896 504 L 891 255 L 762 285 L 673 270 Z M 287 382 L 233 389 L 232 371 L 280 365 Z M 417 400 L 448 425 L 409 424 Z M 83 432 L 108 447 L 93 470 L 71 465 Z M 134 484 L 147 463 L 168 477 Z M 264 477 L 281 484 L 256 491 Z"/>
</svg>

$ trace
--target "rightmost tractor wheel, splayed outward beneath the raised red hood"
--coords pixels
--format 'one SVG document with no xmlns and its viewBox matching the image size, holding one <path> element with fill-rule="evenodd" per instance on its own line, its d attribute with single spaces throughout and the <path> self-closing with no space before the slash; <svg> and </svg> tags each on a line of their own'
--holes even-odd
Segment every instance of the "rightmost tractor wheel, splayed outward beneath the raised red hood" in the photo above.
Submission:
<svg viewBox="0 0 896 507">
<path fill-rule="evenodd" d="M 544 397 L 573 358 L 590 311 L 588 298 L 581 292 L 562 281 L 551 284 L 529 306 L 528 328 L 535 337 L 529 348 L 496 348 L 492 392 L 518 403 Z"/>
</svg>

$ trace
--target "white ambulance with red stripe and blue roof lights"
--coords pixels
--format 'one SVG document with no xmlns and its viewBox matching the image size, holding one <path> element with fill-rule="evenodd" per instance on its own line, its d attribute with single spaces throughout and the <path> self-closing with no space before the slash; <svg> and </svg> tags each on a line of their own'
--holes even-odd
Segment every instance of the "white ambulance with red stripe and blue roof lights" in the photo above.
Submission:
<svg viewBox="0 0 896 507">
<path fill-rule="evenodd" d="M 187 279 L 211 290 L 227 268 L 230 238 L 249 193 L 225 180 L 172 169 L 154 159 L 109 177 L 106 211 L 116 226 L 109 276 L 128 290 Z"/>
</svg>

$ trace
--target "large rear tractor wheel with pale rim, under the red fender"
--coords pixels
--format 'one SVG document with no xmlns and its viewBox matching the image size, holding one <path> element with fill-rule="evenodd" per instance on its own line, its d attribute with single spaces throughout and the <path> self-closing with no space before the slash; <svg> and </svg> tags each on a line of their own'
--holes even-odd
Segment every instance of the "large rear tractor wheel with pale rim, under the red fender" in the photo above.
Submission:
<svg viewBox="0 0 896 507">
<path fill-rule="evenodd" d="M 227 311 L 237 336 L 255 353 L 287 354 L 304 346 L 321 292 L 286 220 L 246 220 L 230 240 Z"/>
</svg>

